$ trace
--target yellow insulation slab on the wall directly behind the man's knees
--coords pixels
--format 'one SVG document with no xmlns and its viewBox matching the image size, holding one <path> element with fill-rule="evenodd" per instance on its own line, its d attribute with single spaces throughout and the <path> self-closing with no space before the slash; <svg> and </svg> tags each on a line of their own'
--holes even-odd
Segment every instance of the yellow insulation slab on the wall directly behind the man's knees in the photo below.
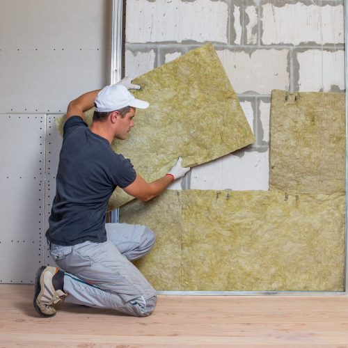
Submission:
<svg viewBox="0 0 348 348">
<path fill-rule="evenodd" d="M 120 221 L 148 226 L 156 234 L 152 251 L 134 264 L 156 289 L 182 290 L 182 213 L 180 191 L 167 190 L 144 203 L 133 200 L 120 208 Z"/>
</svg>

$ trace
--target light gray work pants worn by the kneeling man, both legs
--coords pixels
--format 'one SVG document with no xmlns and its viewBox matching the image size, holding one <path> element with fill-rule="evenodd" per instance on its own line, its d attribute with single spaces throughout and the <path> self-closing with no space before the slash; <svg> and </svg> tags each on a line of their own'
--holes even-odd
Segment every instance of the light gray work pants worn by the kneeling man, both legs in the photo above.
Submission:
<svg viewBox="0 0 348 348">
<path fill-rule="evenodd" d="M 156 291 L 131 261 L 150 251 L 154 233 L 146 226 L 106 223 L 106 234 L 104 243 L 50 244 L 52 258 L 65 271 L 65 301 L 139 317 L 150 315 Z"/>
</svg>

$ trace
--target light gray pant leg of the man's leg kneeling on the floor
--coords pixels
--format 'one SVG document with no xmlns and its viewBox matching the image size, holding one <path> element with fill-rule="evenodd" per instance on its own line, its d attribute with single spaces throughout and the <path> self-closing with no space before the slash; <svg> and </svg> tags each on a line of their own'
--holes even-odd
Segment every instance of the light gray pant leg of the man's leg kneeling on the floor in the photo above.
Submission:
<svg viewBox="0 0 348 348">
<path fill-rule="evenodd" d="M 51 245 L 64 276 L 65 301 L 147 316 L 156 306 L 156 291 L 111 242 L 76 246 Z"/>
</svg>

